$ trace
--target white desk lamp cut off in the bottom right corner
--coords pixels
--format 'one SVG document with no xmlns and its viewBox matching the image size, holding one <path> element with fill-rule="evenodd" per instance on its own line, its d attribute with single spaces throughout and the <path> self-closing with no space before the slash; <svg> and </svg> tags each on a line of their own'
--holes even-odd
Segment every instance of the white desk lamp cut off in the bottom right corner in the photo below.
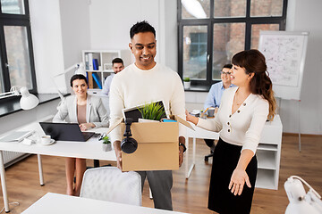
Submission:
<svg viewBox="0 0 322 214">
<path fill-rule="evenodd" d="M 301 182 L 309 187 L 309 192 Z M 290 201 L 285 210 L 285 214 L 321 214 L 321 196 L 301 177 L 292 176 L 287 178 L 284 189 Z"/>
</svg>

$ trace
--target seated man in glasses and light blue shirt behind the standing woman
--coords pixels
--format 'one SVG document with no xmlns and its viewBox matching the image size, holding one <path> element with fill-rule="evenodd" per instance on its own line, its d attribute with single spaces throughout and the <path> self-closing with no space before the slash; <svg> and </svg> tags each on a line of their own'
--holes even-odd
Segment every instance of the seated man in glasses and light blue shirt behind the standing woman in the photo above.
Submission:
<svg viewBox="0 0 322 214">
<path fill-rule="evenodd" d="M 225 89 L 234 86 L 231 82 L 231 69 L 232 64 L 225 64 L 222 71 L 220 71 L 220 78 L 222 81 L 217 82 L 216 84 L 210 87 L 209 93 L 207 95 L 207 99 L 204 105 L 205 110 L 209 107 L 215 107 L 215 114 L 219 109 L 221 97 L 225 91 Z M 214 152 L 215 144 L 212 139 L 205 139 L 206 144 L 211 148 L 211 152 Z M 206 158 L 205 158 L 206 160 Z"/>
</svg>

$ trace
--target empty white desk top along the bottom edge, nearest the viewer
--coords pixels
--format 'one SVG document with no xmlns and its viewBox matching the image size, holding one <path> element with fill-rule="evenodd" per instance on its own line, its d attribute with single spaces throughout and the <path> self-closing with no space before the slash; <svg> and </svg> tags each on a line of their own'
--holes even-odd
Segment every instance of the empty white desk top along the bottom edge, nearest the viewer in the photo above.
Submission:
<svg viewBox="0 0 322 214">
<path fill-rule="evenodd" d="M 37 202 L 32 204 L 27 210 L 21 214 L 57 214 L 57 213 L 78 213 L 78 214 L 180 214 L 182 212 L 158 210 L 140 206 L 133 206 L 116 202 L 105 202 L 87 198 L 80 198 L 58 193 L 47 193 Z"/>
</svg>

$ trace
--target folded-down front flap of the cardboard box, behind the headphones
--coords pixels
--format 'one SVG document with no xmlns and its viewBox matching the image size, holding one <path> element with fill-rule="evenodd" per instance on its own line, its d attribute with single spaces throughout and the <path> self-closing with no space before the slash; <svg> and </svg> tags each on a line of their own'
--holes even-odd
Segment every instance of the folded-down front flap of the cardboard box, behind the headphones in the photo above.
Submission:
<svg viewBox="0 0 322 214">
<path fill-rule="evenodd" d="M 122 134 L 125 125 L 121 124 Z M 139 144 L 141 143 L 174 143 L 178 142 L 178 123 L 132 123 L 131 134 Z"/>
</svg>

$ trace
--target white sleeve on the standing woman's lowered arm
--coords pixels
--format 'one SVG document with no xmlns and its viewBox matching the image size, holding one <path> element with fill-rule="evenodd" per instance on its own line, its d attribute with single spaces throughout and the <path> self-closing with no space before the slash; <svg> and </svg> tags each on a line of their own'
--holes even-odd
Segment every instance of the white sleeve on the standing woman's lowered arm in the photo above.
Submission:
<svg viewBox="0 0 322 214">
<path fill-rule="evenodd" d="M 260 99 L 250 121 L 250 128 L 246 131 L 243 140 L 242 150 L 249 149 L 256 153 L 262 130 L 265 126 L 269 111 L 269 104 L 267 100 Z"/>
</svg>

